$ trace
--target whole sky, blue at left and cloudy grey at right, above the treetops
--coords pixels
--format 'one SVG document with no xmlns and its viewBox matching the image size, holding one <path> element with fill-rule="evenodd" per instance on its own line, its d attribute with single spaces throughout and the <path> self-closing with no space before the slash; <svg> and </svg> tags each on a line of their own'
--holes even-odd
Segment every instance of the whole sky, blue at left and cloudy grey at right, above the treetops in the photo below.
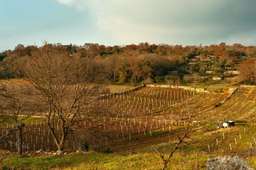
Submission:
<svg viewBox="0 0 256 170">
<path fill-rule="evenodd" d="M 256 45 L 256 0 L 0 0 L 0 51 L 148 42 Z"/>
</svg>

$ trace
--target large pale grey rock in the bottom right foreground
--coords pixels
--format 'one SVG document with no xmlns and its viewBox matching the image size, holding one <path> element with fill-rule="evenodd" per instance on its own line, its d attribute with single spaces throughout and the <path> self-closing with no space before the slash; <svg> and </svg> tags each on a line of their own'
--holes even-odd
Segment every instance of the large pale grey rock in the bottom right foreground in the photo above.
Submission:
<svg viewBox="0 0 256 170">
<path fill-rule="evenodd" d="M 253 170 L 238 156 L 214 157 L 206 162 L 207 170 Z"/>
</svg>

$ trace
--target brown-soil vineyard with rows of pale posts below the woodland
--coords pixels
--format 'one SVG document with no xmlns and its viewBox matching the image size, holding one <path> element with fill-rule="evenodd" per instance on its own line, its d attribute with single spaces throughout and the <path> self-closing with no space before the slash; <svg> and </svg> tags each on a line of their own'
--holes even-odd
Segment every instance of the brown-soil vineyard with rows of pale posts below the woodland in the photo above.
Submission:
<svg viewBox="0 0 256 170">
<path fill-rule="evenodd" d="M 106 147 L 115 141 L 129 141 L 139 136 L 152 136 L 163 132 L 175 132 L 185 129 L 190 114 L 201 114 L 201 111 L 213 107 L 229 94 L 224 92 L 205 93 L 180 88 L 143 87 L 123 93 L 109 94 L 97 98 L 97 102 L 108 108 L 111 114 L 100 121 L 79 122 L 77 131 L 70 134 L 65 142 L 65 149 L 76 150 L 86 140 L 91 148 Z M 188 107 L 187 108 L 187 102 Z M 200 122 L 206 123 L 205 122 Z M 30 117 L 23 129 L 23 151 L 39 149 L 51 151 L 56 144 L 46 125 L 44 117 Z M 199 124 L 193 118 L 191 124 Z M 15 127 L 13 123 L 2 125 L 2 134 Z M 55 122 L 55 131 L 60 136 L 59 122 Z M 95 132 L 90 138 L 83 133 L 87 129 Z M 0 131 L 0 132 L 1 132 Z M 100 132 L 100 133 L 99 133 Z M 88 131 L 89 133 L 89 131 Z M 88 135 L 87 135 L 88 136 Z M 7 135 L 0 141 L 2 149 L 15 151 L 17 133 Z"/>
</svg>

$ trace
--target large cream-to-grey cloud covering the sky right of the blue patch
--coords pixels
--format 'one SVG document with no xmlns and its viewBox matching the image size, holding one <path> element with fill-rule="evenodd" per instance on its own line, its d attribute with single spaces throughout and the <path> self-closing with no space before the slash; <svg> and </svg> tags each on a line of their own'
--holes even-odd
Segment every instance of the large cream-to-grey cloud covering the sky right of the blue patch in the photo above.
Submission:
<svg viewBox="0 0 256 170">
<path fill-rule="evenodd" d="M 254 27 L 255 22 L 243 20 L 256 14 L 251 6 L 222 0 L 57 0 L 78 11 L 88 11 L 94 24 L 119 44 L 148 41 L 149 43 L 199 44 L 217 43 L 224 40 L 241 40 L 236 33 L 243 33 L 244 27 Z M 238 1 L 239 2 L 239 1 Z M 251 10 L 251 11 L 250 11 Z M 255 17 L 251 18 L 251 20 Z M 231 37 L 232 36 L 232 37 Z M 246 35 L 248 36 L 248 35 Z M 249 35 L 251 36 L 251 35 Z M 231 37 L 231 38 L 230 38 Z M 233 40 L 232 40 L 233 39 Z M 222 41 L 223 40 L 223 41 Z"/>
</svg>

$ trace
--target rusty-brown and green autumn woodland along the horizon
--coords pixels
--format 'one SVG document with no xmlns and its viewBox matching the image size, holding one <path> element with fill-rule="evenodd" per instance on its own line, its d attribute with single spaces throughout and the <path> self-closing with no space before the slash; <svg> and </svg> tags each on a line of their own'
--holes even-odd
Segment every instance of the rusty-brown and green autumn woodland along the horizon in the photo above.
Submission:
<svg viewBox="0 0 256 170">
<path fill-rule="evenodd" d="M 15 61 L 24 56 L 33 56 L 47 46 L 63 51 L 67 56 L 81 54 L 81 57 L 92 59 L 98 68 L 105 71 L 111 84 L 139 83 L 148 79 L 167 75 L 170 71 L 180 69 L 188 63 L 188 59 L 195 56 L 201 58 L 207 55 L 219 60 L 226 60 L 232 65 L 241 56 L 256 57 L 255 46 L 243 46 L 225 43 L 210 46 L 181 46 L 149 43 L 131 44 L 126 46 L 104 46 L 93 43 L 85 43 L 83 46 L 44 44 L 42 47 L 30 45 L 25 47 L 18 44 L 14 50 L 6 50 L 0 54 L 0 78 L 14 78 Z M 198 68 L 200 69 L 200 68 Z M 197 69 L 197 70 L 198 70 Z"/>
</svg>

